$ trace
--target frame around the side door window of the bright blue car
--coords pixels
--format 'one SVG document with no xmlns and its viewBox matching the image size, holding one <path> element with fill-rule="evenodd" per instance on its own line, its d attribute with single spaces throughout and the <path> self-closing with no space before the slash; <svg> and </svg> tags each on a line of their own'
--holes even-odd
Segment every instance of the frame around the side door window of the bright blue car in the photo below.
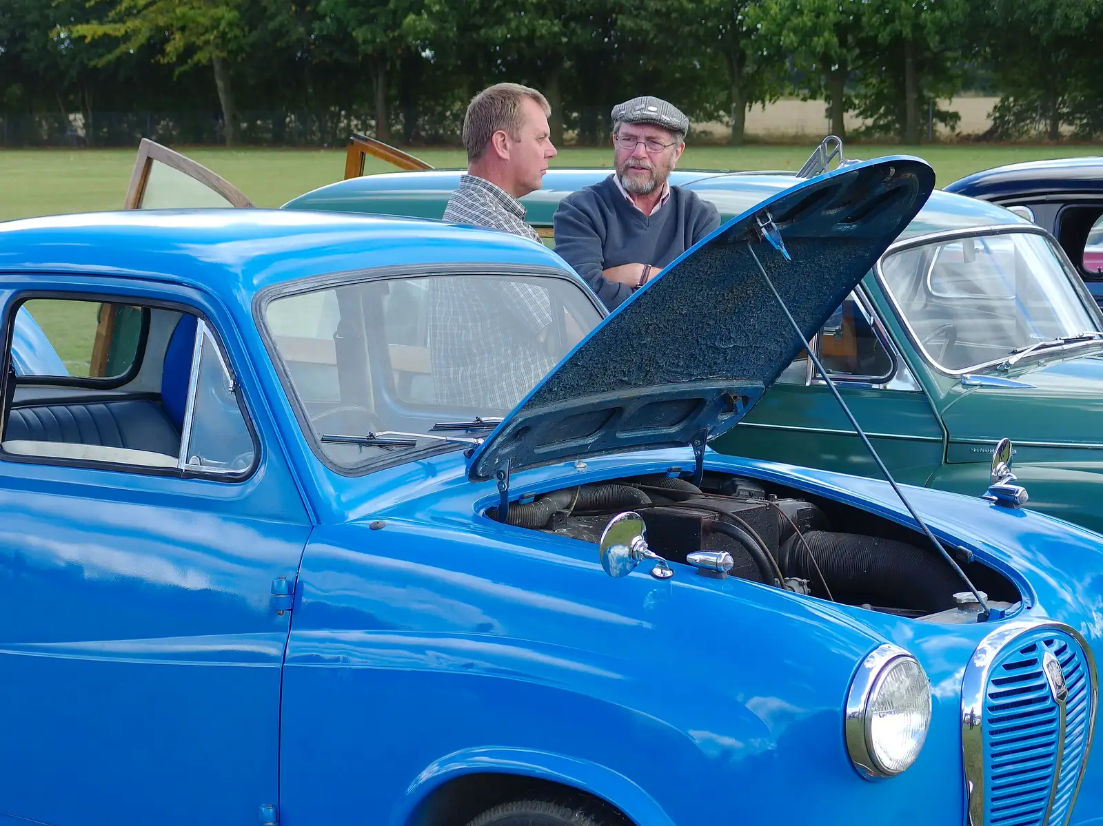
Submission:
<svg viewBox="0 0 1103 826">
<path fill-rule="evenodd" d="M 185 459 L 186 451 L 185 448 L 185 431 L 191 430 L 191 416 L 193 415 L 194 408 L 194 397 L 197 387 L 197 352 L 193 348 L 192 354 L 192 372 L 189 376 L 189 394 L 188 394 L 188 406 L 185 410 L 184 427 L 181 428 L 180 436 L 180 449 L 176 453 L 175 466 L 158 466 L 149 464 L 130 464 L 126 462 L 110 462 L 90 459 L 71 459 L 65 457 L 49 457 L 49 455 L 34 455 L 24 453 L 10 453 L 3 449 L 3 433 L 8 427 L 8 412 L 11 407 L 14 407 L 12 403 L 9 405 L 9 395 L 14 394 L 14 388 L 11 388 L 11 394 L 9 394 L 9 383 L 12 380 L 12 340 L 15 331 L 15 314 L 19 308 L 22 307 L 25 297 L 38 297 L 38 298 L 50 298 L 57 300 L 109 300 L 113 303 L 130 304 L 136 307 L 141 307 L 143 310 L 169 310 L 172 312 L 186 313 L 189 315 L 194 315 L 196 319 L 196 342 L 199 342 L 200 335 L 199 331 L 201 328 L 205 329 L 212 340 L 216 345 L 216 352 L 218 355 L 219 363 L 229 374 L 231 380 L 234 385 L 234 397 L 237 401 L 237 408 L 242 414 L 242 418 L 245 421 L 246 430 L 249 433 L 249 439 L 253 442 L 253 463 L 245 471 L 239 471 L 236 473 L 227 472 L 216 472 L 210 470 L 195 470 L 193 466 L 181 468 L 181 462 Z M 104 297 L 106 296 L 106 299 Z M 94 297 L 94 298 L 90 298 Z M 122 300 L 120 300 L 122 299 Z M 150 313 L 143 313 L 143 335 L 148 337 L 149 333 L 149 319 Z M 233 362 L 229 360 L 229 355 L 226 352 L 225 344 L 223 343 L 222 336 L 218 335 L 217 328 L 211 323 L 210 317 L 200 310 L 199 308 L 188 304 L 181 301 L 163 300 L 157 298 L 144 298 L 137 294 L 127 293 L 104 293 L 100 291 L 89 291 L 81 292 L 79 290 L 74 290 L 69 287 L 64 287 L 55 292 L 35 289 L 35 290 L 15 290 L 13 294 L 8 300 L 2 315 L 0 315 L 0 324 L 3 325 L 2 341 L 3 341 L 3 354 L 0 358 L 0 462 L 9 462 L 12 464 L 34 464 L 34 465 L 47 465 L 47 466 L 60 466 L 60 468 L 75 468 L 85 470 L 98 470 L 98 471 L 114 471 L 122 472 L 131 475 L 142 475 L 142 476 L 163 476 L 170 479 L 199 479 L 204 481 L 214 481 L 232 484 L 240 484 L 248 481 L 260 468 L 264 458 L 264 444 L 260 439 L 259 431 L 256 428 L 255 417 L 249 409 L 249 401 L 246 398 L 246 391 L 242 383 L 237 378 L 237 372 L 233 367 Z M 147 344 L 146 339 L 142 341 L 142 356 L 144 357 L 144 346 Z M 138 364 L 138 369 L 140 369 L 140 362 L 136 358 L 136 364 Z M 137 375 L 137 371 L 133 375 Z M 133 378 L 133 375 L 130 379 Z M 29 382 L 29 378 L 42 378 L 42 382 Z M 57 377 L 62 380 L 54 380 L 51 376 L 39 376 L 39 377 L 26 377 L 17 376 L 15 386 L 20 384 L 26 385 L 63 385 L 65 377 Z M 128 379 L 128 380 L 130 380 Z M 81 385 L 84 386 L 84 385 Z M 121 385 L 116 385 L 116 388 Z M 89 389 L 109 389 L 103 384 L 97 384 Z M 159 394 L 156 394 L 159 398 Z M 150 397 L 149 391 L 136 391 L 133 396 L 137 397 Z M 89 400 L 109 400 L 115 399 L 115 396 L 92 396 Z M 129 398 L 126 397 L 126 398 Z M 168 454 L 165 454 L 168 455 Z"/>
</svg>

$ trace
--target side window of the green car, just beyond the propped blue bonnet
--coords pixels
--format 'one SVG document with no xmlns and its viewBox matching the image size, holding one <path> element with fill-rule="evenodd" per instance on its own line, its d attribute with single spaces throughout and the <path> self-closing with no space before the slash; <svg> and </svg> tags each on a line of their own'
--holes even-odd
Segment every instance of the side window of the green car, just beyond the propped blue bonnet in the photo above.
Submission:
<svg viewBox="0 0 1103 826">
<path fill-rule="evenodd" d="M 885 380 L 892 374 L 892 357 L 854 292 L 816 333 L 816 347 L 832 378 L 870 382 Z M 804 384 L 808 376 L 807 357 L 807 351 L 797 353 L 778 380 Z"/>
</svg>

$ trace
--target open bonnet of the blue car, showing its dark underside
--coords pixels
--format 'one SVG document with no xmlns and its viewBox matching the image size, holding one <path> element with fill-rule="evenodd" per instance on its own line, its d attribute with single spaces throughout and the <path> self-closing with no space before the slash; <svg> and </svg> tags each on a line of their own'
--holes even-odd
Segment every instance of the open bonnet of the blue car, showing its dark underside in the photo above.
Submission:
<svg viewBox="0 0 1103 826">
<path fill-rule="evenodd" d="M 502 486 L 525 468 L 645 448 L 693 446 L 703 455 L 777 380 L 933 187 L 924 161 L 882 158 L 803 181 L 732 218 L 568 353 L 471 454 L 469 478 L 496 476 Z"/>
</svg>

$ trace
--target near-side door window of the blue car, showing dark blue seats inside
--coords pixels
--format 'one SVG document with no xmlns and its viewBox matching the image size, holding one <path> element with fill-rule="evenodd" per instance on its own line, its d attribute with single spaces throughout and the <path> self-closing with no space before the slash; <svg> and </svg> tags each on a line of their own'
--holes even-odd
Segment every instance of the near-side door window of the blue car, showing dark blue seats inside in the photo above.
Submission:
<svg viewBox="0 0 1103 826">
<path fill-rule="evenodd" d="M 239 388 L 202 319 L 138 303 L 35 298 L 9 323 L 18 328 L 32 314 L 53 331 L 72 375 L 20 374 L 10 354 L 4 459 L 227 479 L 255 464 Z M 14 335 L 9 341 L 22 346 Z"/>
</svg>

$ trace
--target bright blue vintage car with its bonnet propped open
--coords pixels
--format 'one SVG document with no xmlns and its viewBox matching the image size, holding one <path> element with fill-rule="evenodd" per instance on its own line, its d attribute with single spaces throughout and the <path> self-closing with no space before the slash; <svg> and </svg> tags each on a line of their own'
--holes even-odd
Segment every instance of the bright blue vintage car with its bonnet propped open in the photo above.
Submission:
<svg viewBox="0 0 1103 826">
<path fill-rule="evenodd" d="M 604 320 L 435 222 L 0 225 L 81 365 L 2 394 L 0 822 L 1099 823 L 1100 536 L 707 448 L 932 185 L 800 183 Z"/>
</svg>

